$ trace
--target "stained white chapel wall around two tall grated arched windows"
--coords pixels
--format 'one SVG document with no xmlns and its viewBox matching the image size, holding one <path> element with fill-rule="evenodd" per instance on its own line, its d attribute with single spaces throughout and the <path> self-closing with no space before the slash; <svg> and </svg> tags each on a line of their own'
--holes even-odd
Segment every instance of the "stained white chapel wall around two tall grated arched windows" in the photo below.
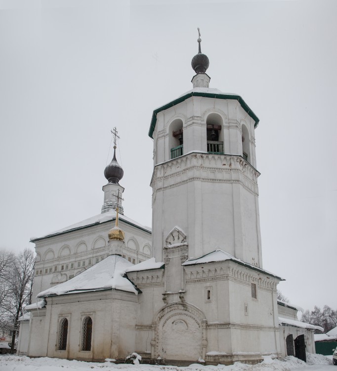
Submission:
<svg viewBox="0 0 337 371">
<path fill-rule="evenodd" d="M 34 323 L 29 356 L 91 361 L 125 358 L 134 352 L 137 298 L 133 293 L 105 290 L 50 297 L 44 312 L 47 331 Z M 81 350 L 82 323 L 86 316 L 92 319 L 90 351 Z M 63 317 L 68 319 L 67 349 L 58 350 L 59 322 Z M 39 321 L 35 317 L 33 320 Z"/>
</svg>

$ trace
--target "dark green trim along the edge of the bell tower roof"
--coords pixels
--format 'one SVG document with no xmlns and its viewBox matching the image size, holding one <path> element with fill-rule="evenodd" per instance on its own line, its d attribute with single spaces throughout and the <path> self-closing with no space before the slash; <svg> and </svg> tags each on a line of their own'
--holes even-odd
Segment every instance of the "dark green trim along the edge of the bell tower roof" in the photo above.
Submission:
<svg viewBox="0 0 337 371">
<path fill-rule="evenodd" d="M 173 107 L 184 100 L 190 98 L 191 96 L 202 96 L 205 98 L 216 98 L 216 99 L 236 99 L 240 104 L 241 107 L 252 117 L 252 119 L 255 121 L 254 128 L 257 127 L 259 123 L 259 118 L 254 114 L 254 112 L 251 110 L 251 108 L 248 106 L 248 104 L 242 99 L 240 95 L 235 94 L 222 94 L 222 93 L 200 93 L 200 92 L 191 92 L 187 93 L 183 96 L 180 96 L 179 98 L 170 101 L 169 103 L 155 109 L 152 114 L 151 124 L 150 124 L 150 130 L 149 130 L 149 137 L 153 139 L 153 132 L 156 127 L 157 123 L 157 114 L 161 111 L 165 111 L 166 109 Z"/>
</svg>

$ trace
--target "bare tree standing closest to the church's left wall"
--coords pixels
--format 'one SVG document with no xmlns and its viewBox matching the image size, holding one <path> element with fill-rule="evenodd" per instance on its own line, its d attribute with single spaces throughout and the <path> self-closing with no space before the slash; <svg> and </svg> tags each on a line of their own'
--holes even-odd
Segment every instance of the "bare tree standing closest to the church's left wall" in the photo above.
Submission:
<svg viewBox="0 0 337 371">
<path fill-rule="evenodd" d="M 23 315 L 23 305 L 29 304 L 31 299 L 34 263 L 35 252 L 29 248 L 26 248 L 23 252 L 17 255 L 13 266 L 10 284 L 11 307 L 8 309 L 13 320 L 13 334 L 10 353 L 14 353 L 15 337 L 18 330 L 18 319 Z"/>
</svg>

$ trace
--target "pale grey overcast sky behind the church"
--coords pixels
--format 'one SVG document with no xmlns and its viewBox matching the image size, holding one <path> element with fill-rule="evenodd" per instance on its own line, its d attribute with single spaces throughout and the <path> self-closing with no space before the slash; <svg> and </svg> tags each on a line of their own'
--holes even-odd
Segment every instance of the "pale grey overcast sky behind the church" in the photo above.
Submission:
<svg viewBox="0 0 337 371">
<path fill-rule="evenodd" d="M 0 0 L 0 248 L 100 213 L 115 126 L 125 215 L 151 226 L 151 115 L 192 88 L 200 27 L 210 87 L 260 119 L 263 268 L 292 303 L 337 309 L 336 14 L 335 0 Z"/>
</svg>

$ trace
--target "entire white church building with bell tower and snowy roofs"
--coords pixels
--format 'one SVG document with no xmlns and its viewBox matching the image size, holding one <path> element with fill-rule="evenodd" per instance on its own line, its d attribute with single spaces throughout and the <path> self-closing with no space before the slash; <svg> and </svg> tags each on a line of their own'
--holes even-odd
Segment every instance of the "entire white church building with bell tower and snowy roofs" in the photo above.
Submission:
<svg viewBox="0 0 337 371">
<path fill-rule="evenodd" d="M 277 300 L 283 278 L 262 266 L 258 118 L 239 95 L 209 88 L 198 43 L 193 89 L 151 120 L 152 235 L 118 215 L 114 156 L 102 213 L 32 239 L 40 260 L 28 356 L 231 364 L 315 352 L 316 327 Z"/>
</svg>

